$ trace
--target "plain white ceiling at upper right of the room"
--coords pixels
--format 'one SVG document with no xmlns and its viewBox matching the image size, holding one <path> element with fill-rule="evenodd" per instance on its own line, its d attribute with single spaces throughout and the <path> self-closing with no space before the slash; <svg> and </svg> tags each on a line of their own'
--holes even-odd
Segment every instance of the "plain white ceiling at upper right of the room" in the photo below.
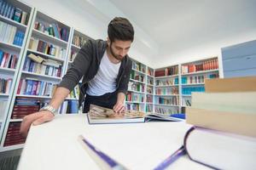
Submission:
<svg viewBox="0 0 256 170">
<path fill-rule="evenodd" d="M 256 32 L 256 0 L 109 1 L 157 43 L 161 55 Z"/>
</svg>

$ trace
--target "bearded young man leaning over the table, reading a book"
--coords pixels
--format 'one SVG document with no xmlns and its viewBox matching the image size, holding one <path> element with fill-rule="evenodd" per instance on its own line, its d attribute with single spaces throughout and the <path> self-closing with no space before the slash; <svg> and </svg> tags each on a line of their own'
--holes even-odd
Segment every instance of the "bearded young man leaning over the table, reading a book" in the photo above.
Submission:
<svg viewBox="0 0 256 170">
<path fill-rule="evenodd" d="M 49 105 L 25 116 L 20 133 L 26 136 L 31 124 L 51 121 L 61 103 L 82 77 L 79 106 L 84 102 L 84 112 L 88 112 L 90 104 L 94 104 L 113 109 L 116 116 L 122 115 L 131 73 L 131 59 L 127 53 L 133 38 L 134 30 L 129 20 L 122 17 L 111 20 L 108 25 L 108 40 L 89 40 L 84 44 L 56 88 Z"/>
</svg>

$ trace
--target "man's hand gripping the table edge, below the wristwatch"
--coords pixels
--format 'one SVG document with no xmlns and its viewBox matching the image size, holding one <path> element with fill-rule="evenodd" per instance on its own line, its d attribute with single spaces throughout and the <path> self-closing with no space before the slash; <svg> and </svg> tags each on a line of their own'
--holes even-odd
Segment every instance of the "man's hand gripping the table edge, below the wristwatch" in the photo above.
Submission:
<svg viewBox="0 0 256 170">
<path fill-rule="evenodd" d="M 20 126 L 20 134 L 26 137 L 31 125 L 40 125 L 54 119 L 54 115 L 50 111 L 38 111 L 23 118 Z"/>
</svg>

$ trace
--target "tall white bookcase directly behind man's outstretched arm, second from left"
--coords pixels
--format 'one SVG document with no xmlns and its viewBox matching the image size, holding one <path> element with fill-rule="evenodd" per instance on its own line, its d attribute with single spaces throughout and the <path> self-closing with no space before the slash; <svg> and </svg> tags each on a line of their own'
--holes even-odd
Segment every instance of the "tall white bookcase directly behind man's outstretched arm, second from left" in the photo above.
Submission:
<svg viewBox="0 0 256 170">
<path fill-rule="evenodd" d="M 19 134 L 22 118 L 49 103 L 56 84 L 66 72 L 72 28 L 36 8 L 30 12 L 25 28 L 26 43 L 20 48 L 22 53 L 5 117 L 2 150 L 23 146 L 26 139 Z M 15 133 L 10 135 L 12 129 Z"/>
</svg>

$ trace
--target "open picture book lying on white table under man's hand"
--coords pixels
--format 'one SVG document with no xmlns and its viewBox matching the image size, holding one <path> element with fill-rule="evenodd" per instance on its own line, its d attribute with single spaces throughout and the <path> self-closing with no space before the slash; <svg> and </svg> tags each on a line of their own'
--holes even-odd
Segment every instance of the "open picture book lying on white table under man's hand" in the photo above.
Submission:
<svg viewBox="0 0 256 170">
<path fill-rule="evenodd" d="M 145 114 L 142 111 L 125 111 L 124 116 L 114 116 L 112 109 L 97 105 L 90 105 L 90 111 L 87 117 L 90 124 L 149 122 L 155 120 L 171 122 L 183 121 L 183 119 L 177 117 L 157 113 Z"/>
</svg>

